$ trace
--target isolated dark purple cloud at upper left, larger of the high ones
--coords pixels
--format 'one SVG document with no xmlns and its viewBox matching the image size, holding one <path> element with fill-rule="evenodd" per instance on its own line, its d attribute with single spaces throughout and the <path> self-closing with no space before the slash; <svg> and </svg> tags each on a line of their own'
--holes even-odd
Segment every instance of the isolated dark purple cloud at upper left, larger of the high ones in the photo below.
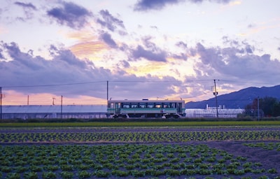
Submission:
<svg viewBox="0 0 280 179">
<path fill-rule="evenodd" d="M 91 13 L 75 3 L 62 1 L 61 6 L 48 10 L 48 15 L 53 17 L 59 24 L 67 25 L 73 29 L 80 29 L 87 23 L 87 17 Z"/>
</svg>

